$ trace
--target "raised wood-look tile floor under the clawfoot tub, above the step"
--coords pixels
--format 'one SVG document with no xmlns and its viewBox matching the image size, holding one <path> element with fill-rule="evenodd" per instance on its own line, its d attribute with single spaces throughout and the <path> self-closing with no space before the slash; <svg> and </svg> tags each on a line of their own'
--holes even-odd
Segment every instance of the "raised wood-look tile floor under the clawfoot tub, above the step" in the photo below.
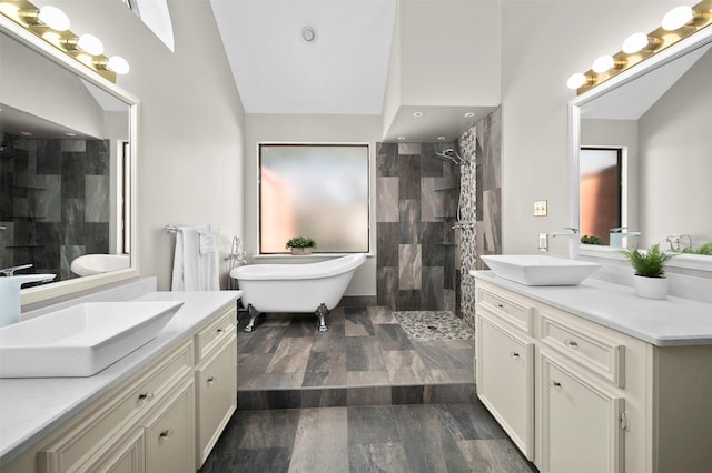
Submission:
<svg viewBox="0 0 712 473">
<path fill-rule="evenodd" d="M 411 340 L 386 308 L 267 314 L 238 326 L 238 390 L 473 383 L 473 340 Z"/>
</svg>

